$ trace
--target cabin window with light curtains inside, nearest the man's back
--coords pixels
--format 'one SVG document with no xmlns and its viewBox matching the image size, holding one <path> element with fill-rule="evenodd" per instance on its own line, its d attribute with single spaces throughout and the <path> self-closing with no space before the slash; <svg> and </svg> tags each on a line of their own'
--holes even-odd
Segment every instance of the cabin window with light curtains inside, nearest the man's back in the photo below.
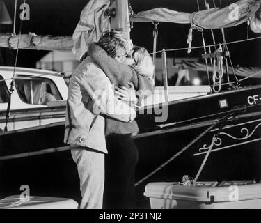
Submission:
<svg viewBox="0 0 261 223">
<path fill-rule="evenodd" d="M 17 75 L 15 87 L 21 100 L 32 105 L 62 100 L 57 86 L 51 79 Z"/>
</svg>

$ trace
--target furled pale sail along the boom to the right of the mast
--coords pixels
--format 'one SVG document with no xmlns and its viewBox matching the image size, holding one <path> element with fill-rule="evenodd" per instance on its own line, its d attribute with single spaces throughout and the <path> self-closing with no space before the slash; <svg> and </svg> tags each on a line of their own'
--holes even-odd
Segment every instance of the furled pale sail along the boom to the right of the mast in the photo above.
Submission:
<svg viewBox="0 0 261 223">
<path fill-rule="evenodd" d="M 241 0 L 225 8 L 211 8 L 196 13 L 181 13 L 167 8 L 153 8 L 134 15 L 132 22 L 173 22 L 196 24 L 204 29 L 220 29 L 237 26 L 255 15 L 261 0 Z"/>
</svg>

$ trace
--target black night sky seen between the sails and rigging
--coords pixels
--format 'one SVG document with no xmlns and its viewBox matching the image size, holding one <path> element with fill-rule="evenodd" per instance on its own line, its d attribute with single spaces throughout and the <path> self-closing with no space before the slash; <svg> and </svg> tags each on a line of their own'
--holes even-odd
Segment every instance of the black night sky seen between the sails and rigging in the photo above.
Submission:
<svg viewBox="0 0 261 223">
<path fill-rule="evenodd" d="M 203 6 L 204 1 L 198 0 L 200 3 L 200 9 L 205 9 Z M 211 7 L 213 1 L 208 0 Z M 230 3 L 234 3 L 236 0 L 215 0 L 216 6 L 228 6 Z M 4 0 L 10 16 L 13 17 L 13 11 L 15 6 L 15 0 Z M 17 5 L 22 4 L 24 0 L 17 0 Z M 31 9 L 31 20 L 24 21 L 22 23 L 22 33 L 33 32 L 39 35 L 50 34 L 54 36 L 72 35 L 77 22 L 79 21 L 79 15 L 88 1 L 84 0 L 26 0 L 29 3 Z M 142 10 L 149 10 L 155 7 L 164 7 L 172 10 L 180 10 L 184 12 L 197 11 L 196 0 L 130 0 L 134 13 L 138 13 Z M 19 15 L 21 10 L 17 10 Z M 171 24 L 161 23 L 158 26 L 159 37 L 157 49 L 173 49 L 180 47 L 187 47 L 187 34 L 189 31 L 189 24 Z M 226 32 L 227 42 L 233 40 L 242 40 L 247 37 L 260 36 L 253 33 L 250 29 L 247 32 L 248 27 L 242 24 L 237 27 L 228 28 Z M 1 32 L 12 32 L 12 26 L 1 26 Z M 17 33 L 19 31 L 19 20 L 17 20 Z M 152 52 L 152 30 L 151 23 L 135 23 L 134 29 L 132 29 L 131 38 L 134 44 L 142 45 Z M 207 44 L 212 44 L 212 37 L 210 31 L 204 31 L 205 41 Z M 214 30 L 216 36 L 216 43 L 221 41 L 220 30 Z M 201 34 L 197 31 L 193 31 L 193 46 L 202 45 Z M 228 45 L 230 54 L 232 56 L 233 63 L 241 66 L 260 66 L 261 67 L 261 40 L 254 40 L 248 43 L 237 43 L 235 45 Z M 10 49 L 1 49 L 5 65 L 13 66 L 14 51 Z M 35 61 L 40 59 L 47 52 L 45 51 L 33 51 L 33 50 L 20 50 L 18 66 L 34 67 Z M 203 53 L 203 49 L 193 50 L 191 54 L 187 54 L 186 51 L 182 52 L 169 52 L 167 56 L 200 56 Z M 160 54 L 158 55 L 160 56 Z"/>
</svg>

